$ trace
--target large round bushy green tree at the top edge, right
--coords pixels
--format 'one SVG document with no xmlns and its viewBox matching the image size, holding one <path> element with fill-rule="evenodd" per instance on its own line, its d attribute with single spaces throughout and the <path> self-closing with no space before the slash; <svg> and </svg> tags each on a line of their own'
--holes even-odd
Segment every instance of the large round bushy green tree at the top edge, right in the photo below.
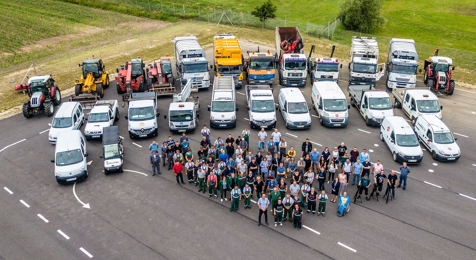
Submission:
<svg viewBox="0 0 476 260">
<path fill-rule="evenodd" d="M 383 0 L 341 0 L 337 17 L 344 28 L 367 33 L 385 22 L 382 6 Z"/>
</svg>

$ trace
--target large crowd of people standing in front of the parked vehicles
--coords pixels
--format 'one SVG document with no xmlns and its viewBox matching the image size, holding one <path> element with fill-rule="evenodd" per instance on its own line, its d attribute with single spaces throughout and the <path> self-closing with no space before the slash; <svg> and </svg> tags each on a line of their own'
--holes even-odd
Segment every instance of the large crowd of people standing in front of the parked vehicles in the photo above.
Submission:
<svg viewBox="0 0 476 260">
<path fill-rule="evenodd" d="M 199 147 L 194 147 L 196 152 L 193 152 L 185 132 L 177 141 L 169 136 L 161 146 L 154 140 L 149 146 L 152 176 L 156 169 L 160 174 L 161 162 L 162 167 L 167 162 L 178 186 L 186 185 L 183 179 L 185 173 L 188 184 L 198 186 L 198 192 L 208 191 L 208 198 L 214 196 L 218 199 L 218 191 L 221 202 L 229 198 L 230 211 L 238 211 L 241 200 L 245 209 L 251 208 L 251 198 L 256 194 L 259 198 L 258 225 L 263 214 L 268 224 L 268 209 L 274 216 L 275 226 L 282 225 L 289 218 L 297 229 L 302 226 L 303 208 L 307 213 L 316 214 L 317 211 L 317 215 L 325 216 L 328 200 L 326 184 L 330 185 L 330 202 L 338 202 L 338 215 L 345 213 L 350 202 L 348 186 L 357 184 L 358 198 L 365 192 L 366 199 L 370 199 L 368 189 L 372 185 L 372 177 L 377 197 L 387 184 L 385 194 L 390 196 L 391 191 L 395 199 L 395 188 L 403 184 L 405 190 L 410 173 L 410 168 L 403 163 L 397 186 L 394 170 L 387 176 L 379 160 L 375 164 L 370 163 L 367 149 L 359 152 L 354 147 L 348 153 L 343 142 L 333 151 L 326 147 L 319 153 L 313 148 L 313 142 L 306 139 L 301 145 L 302 156 L 297 156 L 297 150 L 293 146 L 288 148 L 278 129 L 274 129 L 269 138 L 264 128 L 258 132 L 256 154 L 250 149 L 251 132 L 248 127 L 237 139 L 229 134 L 227 139 L 218 137 L 213 143 L 206 125 L 201 133 L 203 137 Z M 317 191 L 313 186 L 315 180 Z"/>
</svg>

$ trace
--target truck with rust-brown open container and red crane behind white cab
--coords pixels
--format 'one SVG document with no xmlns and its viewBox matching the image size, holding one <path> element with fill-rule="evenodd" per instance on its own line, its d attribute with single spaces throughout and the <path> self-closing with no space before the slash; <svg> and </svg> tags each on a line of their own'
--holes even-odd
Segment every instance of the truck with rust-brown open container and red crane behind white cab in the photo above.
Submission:
<svg viewBox="0 0 476 260">
<path fill-rule="evenodd" d="M 307 58 L 303 54 L 303 47 L 297 27 L 276 27 L 276 63 L 280 85 L 306 85 Z"/>
</svg>

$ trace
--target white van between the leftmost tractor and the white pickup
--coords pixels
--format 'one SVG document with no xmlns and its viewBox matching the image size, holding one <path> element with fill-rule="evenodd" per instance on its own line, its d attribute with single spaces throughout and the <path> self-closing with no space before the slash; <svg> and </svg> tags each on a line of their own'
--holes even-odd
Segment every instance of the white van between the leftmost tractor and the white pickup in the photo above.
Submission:
<svg viewBox="0 0 476 260">
<path fill-rule="evenodd" d="M 84 124 L 84 111 L 79 102 L 63 102 L 55 113 L 48 139 L 55 144 L 58 134 L 69 130 L 79 129 Z"/>
</svg>

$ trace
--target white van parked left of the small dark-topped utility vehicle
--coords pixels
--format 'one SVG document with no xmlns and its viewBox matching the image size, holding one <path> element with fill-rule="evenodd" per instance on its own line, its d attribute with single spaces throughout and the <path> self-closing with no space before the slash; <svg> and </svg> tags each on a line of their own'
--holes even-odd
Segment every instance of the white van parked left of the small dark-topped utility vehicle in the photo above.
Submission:
<svg viewBox="0 0 476 260">
<path fill-rule="evenodd" d="M 79 130 L 58 134 L 55 148 L 55 176 L 59 184 L 77 182 L 88 177 L 86 142 Z"/>
</svg>

